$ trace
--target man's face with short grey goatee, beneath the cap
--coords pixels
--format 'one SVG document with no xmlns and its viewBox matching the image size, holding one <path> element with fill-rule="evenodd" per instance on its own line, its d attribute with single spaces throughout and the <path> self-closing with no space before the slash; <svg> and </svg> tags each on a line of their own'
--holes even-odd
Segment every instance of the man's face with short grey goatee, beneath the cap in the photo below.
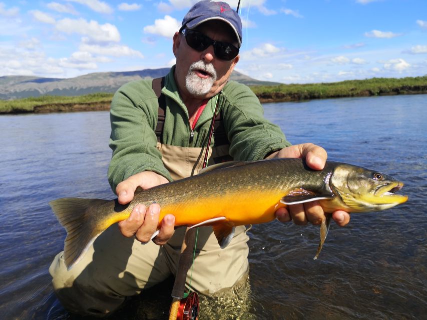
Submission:
<svg viewBox="0 0 427 320">
<path fill-rule="evenodd" d="M 231 27 L 222 21 L 207 21 L 195 30 L 204 33 L 213 40 L 237 45 Z M 175 80 L 181 95 L 195 98 L 210 98 L 222 90 L 234 65 L 239 60 L 237 55 L 232 60 L 221 60 L 210 45 L 203 51 L 191 48 L 182 33 L 175 33 L 173 51 L 176 56 Z M 215 77 L 216 75 L 216 77 Z"/>
</svg>

